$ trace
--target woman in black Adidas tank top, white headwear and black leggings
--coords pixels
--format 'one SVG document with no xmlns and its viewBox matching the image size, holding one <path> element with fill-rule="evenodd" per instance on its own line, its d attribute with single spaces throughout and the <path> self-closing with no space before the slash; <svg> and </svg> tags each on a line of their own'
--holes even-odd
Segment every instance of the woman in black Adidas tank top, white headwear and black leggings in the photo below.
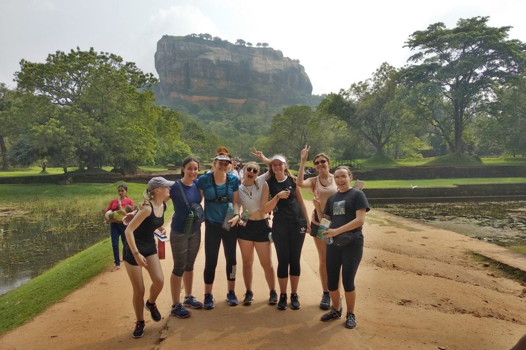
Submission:
<svg viewBox="0 0 526 350">
<path fill-rule="evenodd" d="M 269 199 L 269 195 L 271 199 Z M 298 296 L 300 256 L 305 233 L 310 232 L 307 208 L 296 186 L 296 177 L 290 174 L 282 155 L 270 159 L 269 178 L 261 193 L 261 210 L 274 210 L 272 239 L 278 256 L 278 283 L 280 289 L 278 309 L 287 309 L 287 284 L 290 275 L 290 307 L 301 307 Z"/>
</svg>

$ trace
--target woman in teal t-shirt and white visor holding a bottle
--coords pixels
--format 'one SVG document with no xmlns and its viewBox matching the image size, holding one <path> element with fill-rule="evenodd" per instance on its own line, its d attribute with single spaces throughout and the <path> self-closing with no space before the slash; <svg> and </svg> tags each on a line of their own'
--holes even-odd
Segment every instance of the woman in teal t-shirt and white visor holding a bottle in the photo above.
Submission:
<svg viewBox="0 0 526 350">
<path fill-rule="evenodd" d="M 203 304 L 207 310 L 214 308 L 212 287 L 221 241 L 227 265 L 227 301 L 230 306 L 238 304 L 235 287 L 239 179 L 235 175 L 228 174 L 231 164 L 228 150 L 226 147 L 220 147 L 214 158 L 214 171 L 201 175 L 197 181 L 197 187 L 205 198 L 205 300 Z M 230 230 L 225 231 L 221 226 L 229 204 L 232 204 L 235 215 L 228 220 Z"/>
</svg>

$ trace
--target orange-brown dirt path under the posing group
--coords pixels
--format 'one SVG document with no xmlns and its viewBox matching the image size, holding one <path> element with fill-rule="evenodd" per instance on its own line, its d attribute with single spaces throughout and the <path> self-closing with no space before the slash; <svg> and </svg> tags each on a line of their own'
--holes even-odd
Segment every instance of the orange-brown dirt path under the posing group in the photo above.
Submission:
<svg viewBox="0 0 526 350">
<path fill-rule="evenodd" d="M 145 336 L 133 339 L 131 286 L 123 269 L 97 276 L 43 314 L 0 338 L 2 349 L 347 348 L 505 349 L 526 333 L 526 286 L 499 277 L 466 251 L 491 243 L 401 219 L 368 214 L 358 270 L 355 330 L 343 320 L 320 322 L 321 287 L 312 238 L 302 252 L 301 309 L 267 304 L 268 288 L 255 261 L 251 306 L 225 301 L 225 259 L 214 285 L 216 307 L 188 319 L 168 316 L 171 253 L 162 261 L 165 289 L 157 304 L 164 318 L 146 320 Z M 275 267 L 277 266 L 274 256 Z M 237 296 L 245 291 L 238 252 Z M 203 299 L 204 252 L 196 261 L 194 294 Z M 109 269 L 108 269 L 109 270 Z M 148 278 L 146 277 L 146 281 Z M 345 301 L 344 301 L 345 305 Z"/>
</svg>

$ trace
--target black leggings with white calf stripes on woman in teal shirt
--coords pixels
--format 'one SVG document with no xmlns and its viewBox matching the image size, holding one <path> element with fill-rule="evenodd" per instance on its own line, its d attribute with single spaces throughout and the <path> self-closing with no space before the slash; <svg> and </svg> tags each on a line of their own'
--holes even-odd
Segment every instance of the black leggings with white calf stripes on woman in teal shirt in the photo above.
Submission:
<svg viewBox="0 0 526 350">
<path fill-rule="evenodd" d="M 227 280 L 236 280 L 237 225 L 227 232 L 221 224 L 205 221 L 205 284 L 214 283 L 221 241 L 227 261 Z"/>
</svg>

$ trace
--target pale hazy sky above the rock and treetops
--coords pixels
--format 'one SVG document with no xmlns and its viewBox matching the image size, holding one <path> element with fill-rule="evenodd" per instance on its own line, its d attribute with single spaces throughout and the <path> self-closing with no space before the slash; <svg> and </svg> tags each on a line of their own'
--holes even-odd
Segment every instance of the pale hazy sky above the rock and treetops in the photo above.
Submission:
<svg viewBox="0 0 526 350">
<path fill-rule="evenodd" d="M 459 18 L 490 16 L 526 41 L 524 0 L 1 0 L 0 82 L 9 87 L 19 61 L 43 62 L 50 52 L 94 47 L 153 72 L 164 34 L 209 33 L 235 43 L 266 42 L 299 59 L 313 93 L 337 92 L 365 80 L 384 61 L 403 66 L 409 35 Z"/>
</svg>

